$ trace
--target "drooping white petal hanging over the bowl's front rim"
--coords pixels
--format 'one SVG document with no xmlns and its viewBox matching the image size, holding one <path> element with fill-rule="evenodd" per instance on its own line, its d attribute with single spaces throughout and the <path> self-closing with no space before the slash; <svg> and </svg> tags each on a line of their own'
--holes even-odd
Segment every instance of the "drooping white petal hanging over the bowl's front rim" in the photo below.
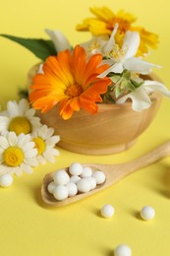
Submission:
<svg viewBox="0 0 170 256">
<path fill-rule="evenodd" d="M 121 97 L 117 100 L 118 104 L 123 104 L 128 98 L 132 99 L 132 108 L 135 111 L 142 111 L 151 105 L 151 100 L 149 96 L 145 93 L 143 87 L 141 86 L 135 92 L 132 92 L 126 96 Z"/>
</svg>

